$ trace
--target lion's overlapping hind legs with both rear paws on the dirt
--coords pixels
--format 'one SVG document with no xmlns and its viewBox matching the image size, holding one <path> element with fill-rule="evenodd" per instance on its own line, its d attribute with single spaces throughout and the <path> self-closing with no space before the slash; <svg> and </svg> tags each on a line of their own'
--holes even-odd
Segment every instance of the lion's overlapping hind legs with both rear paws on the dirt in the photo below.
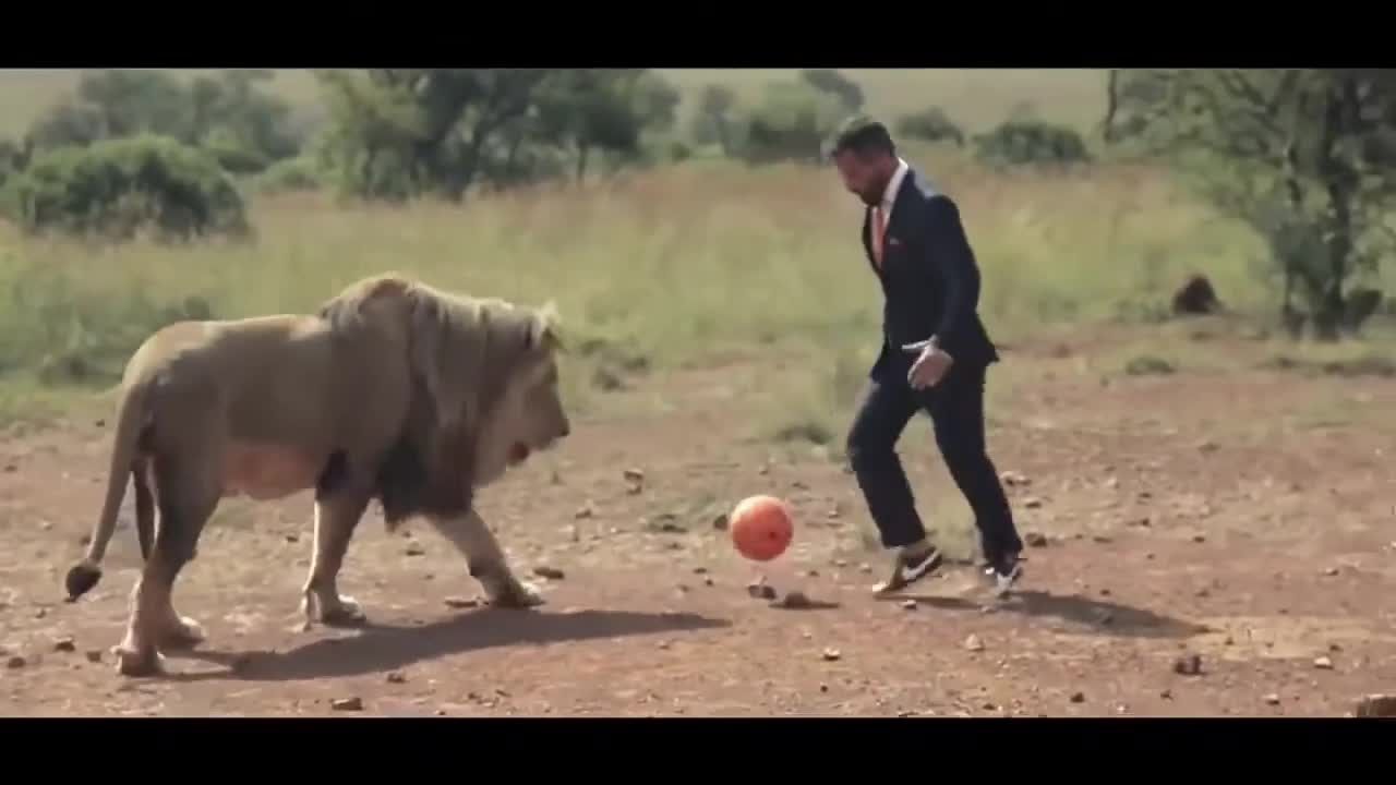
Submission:
<svg viewBox="0 0 1396 785">
<path fill-rule="evenodd" d="M 208 454 L 161 454 L 154 469 L 159 527 L 131 594 L 126 638 L 116 647 L 117 670 L 127 676 L 156 675 L 162 670 L 161 650 L 187 648 L 204 640 L 197 622 L 174 612 L 173 589 L 218 507 L 221 467 Z"/>
</svg>

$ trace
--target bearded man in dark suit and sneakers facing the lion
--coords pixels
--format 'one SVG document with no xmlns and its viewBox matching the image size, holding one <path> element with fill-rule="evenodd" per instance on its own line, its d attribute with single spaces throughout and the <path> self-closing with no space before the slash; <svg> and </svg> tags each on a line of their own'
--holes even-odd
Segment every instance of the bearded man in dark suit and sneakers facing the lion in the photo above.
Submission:
<svg viewBox="0 0 1396 785">
<path fill-rule="evenodd" d="M 847 437 L 847 454 L 881 532 L 896 549 L 896 591 L 941 564 L 916 513 L 896 441 L 919 411 L 979 528 L 984 573 L 1000 592 L 1022 573 L 1022 541 L 998 471 L 984 447 L 984 377 L 998 362 L 977 314 L 980 274 L 959 210 L 896 154 L 877 122 L 845 124 L 832 149 L 843 184 L 867 205 L 863 247 L 882 284 L 882 351 Z"/>
</svg>

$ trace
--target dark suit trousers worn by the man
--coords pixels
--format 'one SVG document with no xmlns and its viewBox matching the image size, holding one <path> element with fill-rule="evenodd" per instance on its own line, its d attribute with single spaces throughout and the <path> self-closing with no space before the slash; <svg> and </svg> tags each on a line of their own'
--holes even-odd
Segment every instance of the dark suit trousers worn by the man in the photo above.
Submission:
<svg viewBox="0 0 1396 785">
<path fill-rule="evenodd" d="M 1012 511 L 984 446 L 984 366 L 951 366 L 935 387 L 916 391 L 891 372 L 875 376 L 849 430 L 849 460 L 885 548 L 926 536 L 896 441 L 912 415 L 931 416 L 935 443 L 955 485 L 974 511 L 984 556 L 1022 550 Z"/>
</svg>

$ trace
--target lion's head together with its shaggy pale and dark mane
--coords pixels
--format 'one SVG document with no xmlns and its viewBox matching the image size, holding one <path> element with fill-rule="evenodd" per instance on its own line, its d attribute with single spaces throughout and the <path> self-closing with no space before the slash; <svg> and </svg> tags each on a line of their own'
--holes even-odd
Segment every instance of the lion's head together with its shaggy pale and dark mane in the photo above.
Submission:
<svg viewBox="0 0 1396 785">
<path fill-rule="evenodd" d="M 468 497 L 571 430 L 551 303 L 532 309 L 380 275 L 346 288 L 321 316 L 341 330 L 367 327 L 402 341 L 420 392 L 405 439 L 419 453 L 427 496 L 459 485 Z"/>
</svg>

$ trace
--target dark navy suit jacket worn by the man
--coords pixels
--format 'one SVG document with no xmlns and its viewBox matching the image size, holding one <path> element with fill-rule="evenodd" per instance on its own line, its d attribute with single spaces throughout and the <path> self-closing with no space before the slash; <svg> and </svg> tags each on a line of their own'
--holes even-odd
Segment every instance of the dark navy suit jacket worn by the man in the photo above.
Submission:
<svg viewBox="0 0 1396 785">
<path fill-rule="evenodd" d="M 979 263 L 959 208 L 914 168 L 902 179 L 882 240 L 882 267 L 872 260 L 872 210 L 863 214 L 863 250 L 882 284 L 882 352 L 874 379 L 906 379 L 914 355 L 903 344 L 938 337 L 955 365 L 998 362 L 979 318 Z"/>
</svg>

